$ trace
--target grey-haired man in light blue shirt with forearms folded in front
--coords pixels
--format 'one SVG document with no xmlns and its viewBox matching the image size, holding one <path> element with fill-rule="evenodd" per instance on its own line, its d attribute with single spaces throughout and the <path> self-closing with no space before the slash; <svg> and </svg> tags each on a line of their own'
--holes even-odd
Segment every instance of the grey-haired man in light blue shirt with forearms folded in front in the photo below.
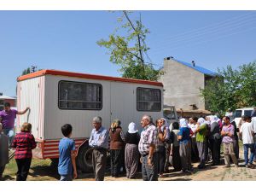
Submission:
<svg viewBox="0 0 256 192">
<path fill-rule="evenodd" d="M 107 163 L 108 131 L 102 127 L 102 118 L 92 120 L 94 129 L 90 133 L 89 145 L 93 148 L 92 164 L 96 181 L 103 181 Z"/>
</svg>

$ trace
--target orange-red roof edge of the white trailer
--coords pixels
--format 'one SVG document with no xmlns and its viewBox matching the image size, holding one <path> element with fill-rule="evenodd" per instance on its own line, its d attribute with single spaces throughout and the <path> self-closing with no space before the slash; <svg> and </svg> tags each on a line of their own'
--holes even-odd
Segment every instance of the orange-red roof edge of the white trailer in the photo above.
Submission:
<svg viewBox="0 0 256 192">
<path fill-rule="evenodd" d="M 29 74 L 20 76 L 17 79 L 17 81 L 23 81 L 26 79 L 37 78 L 37 77 L 44 76 L 44 75 L 65 76 L 65 77 L 81 78 L 81 79 L 100 79 L 100 80 L 119 81 L 119 82 L 127 82 L 127 83 L 134 83 L 134 84 L 151 84 L 151 85 L 163 87 L 162 83 L 156 82 L 156 81 L 116 78 L 116 77 L 109 77 L 109 76 L 103 76 L 103 75 L 95 75 L 95 74 L 87 74 L 87 73 L 72 73 L 72 72 L 49 70 L 49 69 L 40 70 L 35 73 L 29 73 Z"/>
</svg>

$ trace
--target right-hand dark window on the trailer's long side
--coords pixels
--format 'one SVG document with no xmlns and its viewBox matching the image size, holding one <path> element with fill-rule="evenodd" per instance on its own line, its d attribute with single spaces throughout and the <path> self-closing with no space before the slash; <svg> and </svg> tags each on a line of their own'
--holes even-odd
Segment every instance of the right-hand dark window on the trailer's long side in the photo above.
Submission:
<svg viewBox="0 0 256 192">
<path fill-rule="evenodd" d="M 160 111 L 161 90 L 137 88 L 137 111 Z"/>
</svg>

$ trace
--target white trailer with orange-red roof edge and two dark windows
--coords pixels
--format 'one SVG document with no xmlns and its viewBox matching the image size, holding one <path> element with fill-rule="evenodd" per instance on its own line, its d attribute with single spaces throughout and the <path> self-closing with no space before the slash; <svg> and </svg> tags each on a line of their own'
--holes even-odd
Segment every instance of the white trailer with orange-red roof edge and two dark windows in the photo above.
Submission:
<svg viewBox="0 0 256 192">
<path fill-rule="evenodd" d="M 17 129 L 24 122 L 32 124 L 38 143 L 33 156 L 58 158 L 61 125 L 68 123 L 73 125 L 78 166 L 84 172 L 91 169 L 88 139 L 93 117 L 101 116 L 107 129 L 118 118 L 126 132 L 131 121 L 140 127 L 143 114 L 154 120 L 163 114 L 163 84 L 159 82 L 55 70 L 27 74 L 17 81 L 18 110 L 31 108 L 18 116 Z"/>
</svg>

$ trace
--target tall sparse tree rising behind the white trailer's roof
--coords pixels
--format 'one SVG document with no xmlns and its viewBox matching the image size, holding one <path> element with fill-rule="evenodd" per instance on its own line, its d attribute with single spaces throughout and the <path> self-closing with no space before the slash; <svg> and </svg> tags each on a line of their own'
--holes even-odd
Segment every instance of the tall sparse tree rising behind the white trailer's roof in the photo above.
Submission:
<svg viewBox="0 0 256 192">
<path fill-rule="evenodd" d="M 145 40 L 149 31 L 141 19 L 132 21 L 129 14 L 131 12 L 123 11 L 118 19 L 120 26 L 109 35 L 108 40 L 101 39 L 97 44 L 108 49 L 109 61 L 119 65 L 122 77 L 156 81 L 162 72 L 160 68 L 154 68 L 148 57 L 149 48 Z M 120 35 L 120 31 L 125 31 L 125 34 Z"/>
</svg>

